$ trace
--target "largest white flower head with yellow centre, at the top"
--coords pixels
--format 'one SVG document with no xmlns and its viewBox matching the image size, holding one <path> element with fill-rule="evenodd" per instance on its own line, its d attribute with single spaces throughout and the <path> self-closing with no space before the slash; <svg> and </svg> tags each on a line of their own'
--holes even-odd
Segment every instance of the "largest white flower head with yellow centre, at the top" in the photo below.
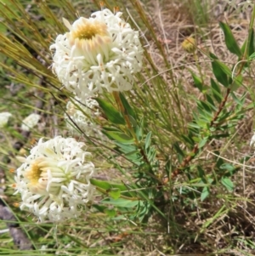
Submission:
<svg viewBox="0 0 255 256">
<path fill-rule="evenodd" d="M 133 87 L 133 75 L 142 67 L 143 48 L 139 31 L 109 9 L 95 12 L 88 19 L 80 17 L 70 30 L 59 35 L 54 44 L 52 69 L 81 100 L 102 93 L 127 91 Z"/>
</svg>

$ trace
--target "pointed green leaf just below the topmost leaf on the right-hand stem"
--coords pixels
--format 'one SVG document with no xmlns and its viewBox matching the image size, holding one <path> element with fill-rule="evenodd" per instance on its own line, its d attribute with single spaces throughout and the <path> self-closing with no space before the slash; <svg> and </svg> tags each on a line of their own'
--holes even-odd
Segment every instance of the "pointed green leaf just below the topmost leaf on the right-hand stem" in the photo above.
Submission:
<svg viewBox="0 0 255 256">
<path fill-rule="evenodd" d="M 210 53 L 210 57 L 212 58 L 212 72 L 214 76 L 218 82 L 224 85 L 224 87 L 228 87 L 229 79 L 227 73 L 231 75 L 231 71 L 229 71 L 228 68 L 228 70 L 226 70 L 224 64 L 221 63 L 214 54 Z"/>
</svg>

